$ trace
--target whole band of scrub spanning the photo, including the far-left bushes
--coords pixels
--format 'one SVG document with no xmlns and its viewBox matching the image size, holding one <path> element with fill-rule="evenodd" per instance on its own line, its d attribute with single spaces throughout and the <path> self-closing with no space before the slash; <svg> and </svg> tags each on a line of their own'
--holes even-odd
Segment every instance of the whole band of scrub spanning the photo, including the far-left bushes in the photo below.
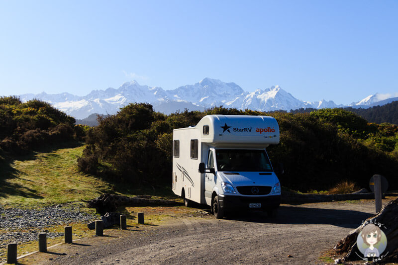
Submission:
<svg viewBox="0 0 398 265">
<path fill-rule="evenodd" d="M 150 104 L 134 103 L 88 127 L 74 126 L 73 117 L 40 100 L 1 97 L 0 159 L 11 163 L 48 144 L 84 139 L 83 154 L 73 167 L 85 176 L 133 188 L 164 187 L 171 182 L 173 129 L 196 125 L 207 114 L 274 116 L 281 141 L 267 150 L 274 165 L 283 163 L 285 174 L 279 177 L 286 188 L 329 190 L 344 181 L 368 187 L 374 174 L 398 188 L 398 127 L 368 123 L 343 109 L 264 113 L 214 107 L 165 115 Z"/>
</svg>

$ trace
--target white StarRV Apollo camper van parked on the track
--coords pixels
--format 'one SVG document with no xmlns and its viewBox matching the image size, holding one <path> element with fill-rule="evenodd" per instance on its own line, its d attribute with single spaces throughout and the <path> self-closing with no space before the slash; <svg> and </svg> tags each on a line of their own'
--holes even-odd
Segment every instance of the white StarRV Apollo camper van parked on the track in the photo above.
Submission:
<svg viewBox="0 0 398 265">
<path fill-rule="evenodd" d="M 173 130 L 173 192 L 211 206 L 216 218 L 241 209 L 275 216 L 281 184 L 266 148 L 279 143 L 273 117 L 206 115 Z"/>
</svg>

